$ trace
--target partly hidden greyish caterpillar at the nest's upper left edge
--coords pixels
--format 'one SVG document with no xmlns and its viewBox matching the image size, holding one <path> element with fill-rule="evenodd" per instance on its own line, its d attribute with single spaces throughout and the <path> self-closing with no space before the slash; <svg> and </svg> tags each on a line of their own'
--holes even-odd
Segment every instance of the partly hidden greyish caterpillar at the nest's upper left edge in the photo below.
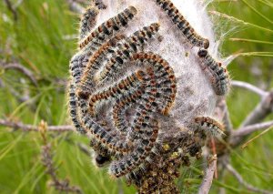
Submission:
<svg viewBox="0 0 273 194">
<path fill-rule="evenodd" d="M 90 6 L 86 8 L 86 11 L 80 21 L 80 40 L 85 38 L 91 32 L 93 27 L 96 26 L 97 15 L 98 9 L 96 8 L 96 6 Z"/>
</svg>

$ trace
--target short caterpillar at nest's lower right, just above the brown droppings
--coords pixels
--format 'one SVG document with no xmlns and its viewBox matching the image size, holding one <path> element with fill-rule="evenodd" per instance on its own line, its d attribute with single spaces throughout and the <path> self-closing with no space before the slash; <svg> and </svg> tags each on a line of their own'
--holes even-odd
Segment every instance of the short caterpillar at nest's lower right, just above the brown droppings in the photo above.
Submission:
<svg viewBox="0 0 273 194">
<path fill-rule="evenodd" d="M 204 130 L 206 134 L 212 137 L 222 138 L 225 136 L 224 126 L 212 117 L 196 117 L 195 123 L 197 124 L 197 128 Z"/>
</svg>

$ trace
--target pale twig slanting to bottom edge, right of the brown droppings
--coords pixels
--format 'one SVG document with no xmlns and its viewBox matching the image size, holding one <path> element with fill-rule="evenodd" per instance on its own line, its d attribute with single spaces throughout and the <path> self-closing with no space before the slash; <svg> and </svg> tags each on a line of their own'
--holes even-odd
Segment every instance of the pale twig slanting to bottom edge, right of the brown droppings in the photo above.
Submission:
<svg viewBox="0 0 273 194">
<path fill-rule="evenodd" d="M 208 166 L 206 169 L 205 177 L 201 183 L 201 186 L 198 190 L 198 194 L 207 194 L 213 180 L 213 176 L 215 173 L 215 170 L 217 168 L 217 156 L 213 156 L 212 161 L 208 162 Z"/>
</svg>

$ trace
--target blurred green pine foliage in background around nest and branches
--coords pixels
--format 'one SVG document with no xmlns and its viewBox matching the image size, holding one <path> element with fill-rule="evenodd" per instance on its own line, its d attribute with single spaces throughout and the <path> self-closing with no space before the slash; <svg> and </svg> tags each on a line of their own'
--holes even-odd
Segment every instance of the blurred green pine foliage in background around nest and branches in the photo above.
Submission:
<svg viewBox="0 0 273 194">
<path fill-rule="evenodd" d="M 5 0 L 0 1 L 0 61 L 25 66 L 35 80 L 20 71 L 0 66 L 0 118 L 32 125 L 39 125 L 41 120 L 48 125 L 69 124 L 66 80 L 69 59 L 76 51 L 79 16 L 70 11 L 65 0 L 10 2 L 16 6 L 15 13 Z M 17 2 L 21 4 L 16 5 Z M 224 38 L 221 53 L 224 56 L 248 53 L 238 56 L 228 66 L 233 79 L 265 90 L 272 88 L 273 1 L 215 0 L 209 10 L 261 26 L 244 25 L 234 19 L 211 15 L 217 22 L 217 31 L 227 33 L 219 37 Z M 258 96 L 246 90 L 232 89 L 227 104 L 235 128 L 258 101 Z M 48 132 L 46 137 L 52 144 L 60 179 L 69 179 L 70 184 L 80 187 L 84 193 L 118 193 L 119 189 L 134 193 L 132 187 L 110 179 L 106 169 L 98 170 L 92 165 L 90 157 L 79 147 L 80 143 L 88 145 L 88 139 L 72 132 Z M 238 148 L 231 153 L 233 166 L 248 183 L 260 189 L 273 190 L 272 139 L 271 131 L 248 148 Z M 48 187 L 50 177 L 41 163 L 42 146 L 38 132 L 0 127 L 0 193 L 58 193 Z M 202 163 L 197 163 L 181 171 L 183 179 L 178 180 L 178 184 L 183 193 L 195 192 L 200 183 L 201 166 Z M 217 193 L 219 187 L 227 189 L 227 193 L 249 192 L 228 173 L 224 180 L 214 181 L 211 193 Z"/>
</svg>

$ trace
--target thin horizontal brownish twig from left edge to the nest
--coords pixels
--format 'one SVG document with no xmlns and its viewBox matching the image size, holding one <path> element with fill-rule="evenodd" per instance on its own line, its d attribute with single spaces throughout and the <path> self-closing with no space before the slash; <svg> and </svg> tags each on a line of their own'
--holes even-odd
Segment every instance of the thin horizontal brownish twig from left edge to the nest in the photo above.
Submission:
<svg viewBox="0 0 273 194">
<path fill-rule="evenodd" d="M 23 124 L 21 122 L 15 122 L 6 119 L 0 119 L 0 126 L 5 126 L 8 128 L 21 128 L 23 131 L 39 131 L 39 127 L 35 125 Z M 48 131 L 57 131 L 57 132 L 65 132 L 65 131 L 74 131 L 72 126 L 48 126 Z"/>
</svg>

